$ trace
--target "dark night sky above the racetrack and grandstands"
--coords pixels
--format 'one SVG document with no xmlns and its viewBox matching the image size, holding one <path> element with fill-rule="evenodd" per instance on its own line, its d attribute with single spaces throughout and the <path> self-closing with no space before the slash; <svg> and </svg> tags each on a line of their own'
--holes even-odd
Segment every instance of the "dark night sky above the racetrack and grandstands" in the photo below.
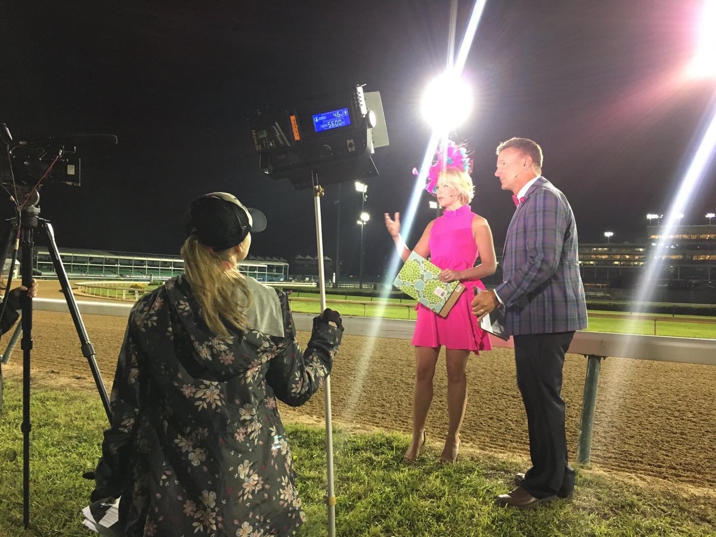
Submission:
<svg viewBox="0 0 716 537">
<path fill-rule="evenodd" d="M 258 107 L 367 84 L 382 95 L 390 146 L 369 180 L 367 274 L 392 241 L 384 212 L 404 212 L 429 135 L 420 96 L 445 67 L 450 3 L 421 0 L 3 2 L 0 121 L 15 140 L 111 133 L 82 153 L 82 186 L 42 188 L 42 216 L 62 247 L 177 255 L 197 195 L 226 190 L 260 208 L 265 256 L 316 252 L 313 200 L 258 169 L 247 117 Z M 458 38 L 471 4 L 460 1 Z M 700 2 L 488 0 L 465 76 L 475 105 L 457 137 L 475 158 L 473 210 L 500 248 L 514 210 L 499 188 L 495 146 L 543 147 L 543 174 L 566 193 L 581 242 L 645 236 L 664 213 L 714 110 L 716 82 L 681 73 L 695 50 Z M 716 210 L 716 165 L 684 223 Z M 335 255 L 338 186 L 322 200 Z M 357 272 L 359 193 L 342 185 L 345 272 Z M 435 212 L 425 194 L 412 246 Z M 3 215 L 11 213 L 8 201 Z"/>
</svg>

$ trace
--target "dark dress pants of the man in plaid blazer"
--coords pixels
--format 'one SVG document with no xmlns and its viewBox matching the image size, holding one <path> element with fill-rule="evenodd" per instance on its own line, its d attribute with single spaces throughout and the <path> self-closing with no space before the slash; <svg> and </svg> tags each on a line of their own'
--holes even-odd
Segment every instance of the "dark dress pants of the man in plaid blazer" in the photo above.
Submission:
<svg viewBox="0 0 716 537">
<path fill-rule="evenodd" d="M 514 337 L 517 385 L 527 412 L 532 458 L 522 487 L 535 498 L 574 490 L 561 396 L 564 354 L 572 337 L 574 332 Z"/>
</svg>

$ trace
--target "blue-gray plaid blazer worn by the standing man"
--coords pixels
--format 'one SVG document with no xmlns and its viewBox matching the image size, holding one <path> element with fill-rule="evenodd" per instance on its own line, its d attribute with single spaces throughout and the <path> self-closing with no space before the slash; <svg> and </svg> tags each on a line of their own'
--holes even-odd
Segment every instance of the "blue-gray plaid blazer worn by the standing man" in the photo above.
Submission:
<svg viewBox="0 0 716 537">
<path fill-rule="evenodd" d="M 505 238 L 503 284 L 507 334 L 552 334 L 587 326 L 577 228 L 567 198 L 543 177 L 516 208 Z"/>
</svg>

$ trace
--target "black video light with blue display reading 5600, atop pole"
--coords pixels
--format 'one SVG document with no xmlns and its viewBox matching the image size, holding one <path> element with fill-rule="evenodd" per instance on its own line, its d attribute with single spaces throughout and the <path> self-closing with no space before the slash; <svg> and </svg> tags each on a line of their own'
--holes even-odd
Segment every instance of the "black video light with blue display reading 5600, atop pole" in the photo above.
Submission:
<svg viewBox="0 0 716 537">
<path fill-rule="evenodd" d="M 312 100 L 259 110 L 249 118 L 259 167 L 274 179 L 288 178 L 296 189 L 378 175 L 372 155 L 388 145 L 379 92 L 351 89 Z"/>
</svg>

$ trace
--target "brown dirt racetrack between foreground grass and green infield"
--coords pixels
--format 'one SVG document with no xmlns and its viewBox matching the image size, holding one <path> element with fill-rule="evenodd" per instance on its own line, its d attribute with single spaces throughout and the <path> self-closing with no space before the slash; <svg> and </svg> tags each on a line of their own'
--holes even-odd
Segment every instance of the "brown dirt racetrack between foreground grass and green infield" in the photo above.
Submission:
<svg viewBox="0 0 716 537">
<path fill-rule="evenodd" d="M 40 296 L 61 298 L 59 285 L 54 282 L 53 288 L 52 284 L 42 282 Z M 69 314 L 34 311 L 33 319 L 33 367 L 56 372 L 70 384 L 91 383 Z M 93 315 L 83 319 L 109 389 L 126 320 Z M 299 337 L 305 344 L 308 334 Z M 10 369 L 15 373 L 21 360 L 18 344 L 11 356 Z M 413 367 L 414 350 L 408 341 L 345 336 L 331 377 L 334 421 L 409 432 Z M 576 449 L 585 367 L 584 357 L 567 355 L 562 393 L 571 454 Z M 639 478 L 715 488 L 716 459 L 711 454 L 716 445 L 715 386 L 716 367 L 712 366 L 606 359 L 599 379 L 592 462 Z M 437 444 L 442 448 L 447 429 L 445 387 L 442 352 L 427 423 L 428 439 L 436 448 Z M 461 434 L 465 447 L 511 457 L 528 455 L 526 417 L 515 382 L 513 352 L 496 349 L 471 357 L 468 390 Z M 323 405 L 321 392 L 304 407 L 282 407 L 281 413 L 285 420 L 299 416 L 321 420 Z"/>
</svg>

